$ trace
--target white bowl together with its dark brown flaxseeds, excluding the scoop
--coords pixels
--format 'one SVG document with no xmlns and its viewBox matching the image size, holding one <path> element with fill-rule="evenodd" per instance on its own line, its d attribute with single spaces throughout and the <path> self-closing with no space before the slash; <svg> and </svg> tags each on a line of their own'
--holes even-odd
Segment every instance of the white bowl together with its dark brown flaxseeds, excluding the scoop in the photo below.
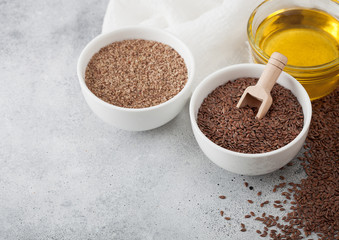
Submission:
<svg viewBox="0 0 339 240">
<path fill-rule="evenodd" d="M 302 85 L 282 72 L 266 116 L 256 108 L 237 108 L 244 92 L 255 85 L 265 65 L 238 64 L 223 68 L 201 82 L 190 102 L 194 136 L 205 155 L 234 173 L 261 175 L 291 161 L 302 148 L 312 106 Z"/>
</svg>

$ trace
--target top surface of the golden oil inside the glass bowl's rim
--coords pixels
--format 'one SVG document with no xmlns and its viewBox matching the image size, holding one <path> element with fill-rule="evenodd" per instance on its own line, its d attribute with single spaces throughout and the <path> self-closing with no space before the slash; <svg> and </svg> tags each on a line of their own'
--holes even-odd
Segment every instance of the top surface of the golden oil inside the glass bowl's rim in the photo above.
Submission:
<svg viewBox="0 0 339 240">
<path fill-rule="evenodd" d="M 322 65 L 339 57 L 339 21 L 319 10 L 279 10 L 261 22 L 255 41 L 269 56 L 284 54 L 289 65 Z"/>
</svg>

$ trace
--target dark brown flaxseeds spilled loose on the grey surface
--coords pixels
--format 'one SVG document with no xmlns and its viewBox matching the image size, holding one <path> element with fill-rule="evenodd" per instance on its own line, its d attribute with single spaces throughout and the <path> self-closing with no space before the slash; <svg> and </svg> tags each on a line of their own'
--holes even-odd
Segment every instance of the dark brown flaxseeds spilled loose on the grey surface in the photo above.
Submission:
<svg viewBox="0 0 339 240">
<path fill-rule="evenodd" d="M 263 229 L 256 230 L 260 237 L 293 240 L 305 239 L 304 236 L 309 237 L 313 233 L 318 239 L 339 239 L 338 102 L 339 88 L 312 103 L 313 116 L 305 146 L 307 151 L 299 158 L 307 177 L 300 183 L 281 182 L 273 186 L 273 192 L 282 191 L 280 196 L 284 200 L 277 199 L 272 204 L 265 202 L 268 207 L 286 211 L 286 214 L 279 218 L 263 212 L 254 218 L 264 224 Z M 292 166 L 292 163 L 287 166 Z M 284 176 L 279 179 L 286 180 Z M 245 187 L 248 187 L 247 182 Z M 254 202 L 267 208 L 262 203 Z"/>
</svg>

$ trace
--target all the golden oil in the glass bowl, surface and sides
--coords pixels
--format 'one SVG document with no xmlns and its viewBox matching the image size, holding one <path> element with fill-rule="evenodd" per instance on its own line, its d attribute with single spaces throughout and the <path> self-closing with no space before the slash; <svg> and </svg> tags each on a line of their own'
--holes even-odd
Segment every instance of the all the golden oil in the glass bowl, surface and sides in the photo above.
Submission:
<svg viewBox="0 0 339 240">
<path fill-rule="evenodd" d="M 266 57 L 273 52 L 287 56 L 285 71 L 303 84 L 311 100 L 336 88 L 339 80 L 339 21 L 330 14 L 307 8 L 276 11 L 259 24 L 254 44 Z M 263 63 L 264 57 L 258 55 L 253 54 L 254 60 Z"/>
</svg>

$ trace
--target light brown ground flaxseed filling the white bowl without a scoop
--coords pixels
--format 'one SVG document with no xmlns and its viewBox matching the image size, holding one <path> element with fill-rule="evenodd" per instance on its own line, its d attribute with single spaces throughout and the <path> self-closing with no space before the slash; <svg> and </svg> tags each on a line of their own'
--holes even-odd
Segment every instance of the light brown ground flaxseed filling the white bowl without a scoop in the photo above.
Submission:
<svg viewBox="0 0 339 240">
<path fill-rule="evenodd" d="M 184 59 L 170 46 L 142 39 L 114 42 L 87 65 L 87 87 L 102 100 L 126 108 L 166 102 L 185 86 Z"/>
</svg>

